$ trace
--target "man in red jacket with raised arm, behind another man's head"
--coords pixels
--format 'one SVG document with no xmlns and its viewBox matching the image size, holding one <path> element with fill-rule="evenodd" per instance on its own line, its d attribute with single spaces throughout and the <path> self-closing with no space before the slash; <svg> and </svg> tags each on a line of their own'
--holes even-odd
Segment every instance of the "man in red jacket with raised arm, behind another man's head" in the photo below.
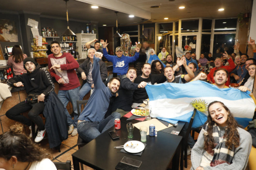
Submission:
<svg viewBox="0 0 256 170">
<path fill-rule="evenodd" d="M 214 79 L 214 72 L 215 72 L 215 70 L 218 70 L 220 68 L 225 68 L 226 70 L 228 70 L 228 73 L 230 73 L 236 67 L 234 65 L 234 62 L 233 62 L 233 60 L 232 60 L 230 55 L 228 55 L 226 52 L 223 53 L 223 55 L 224 55 L 224 57 L 226 57 L 228 59 L 229 65 L 224 66 L 222 64 L 223 61 L 220 58 L 216 58 L 215 62 L 214 62 L 215 63 L 215 68 L 212 68 L 210 73 L 207 75 L 207 79 L 210 81 L 210 83 L 215 83 L 215 79 Z M 228 75 L 228 81 L 226 81 L 225 85 L 229 86 L 229 84 L 230 84 L 230 81 L 229 81 L 229 75 Z"/>
</svg>

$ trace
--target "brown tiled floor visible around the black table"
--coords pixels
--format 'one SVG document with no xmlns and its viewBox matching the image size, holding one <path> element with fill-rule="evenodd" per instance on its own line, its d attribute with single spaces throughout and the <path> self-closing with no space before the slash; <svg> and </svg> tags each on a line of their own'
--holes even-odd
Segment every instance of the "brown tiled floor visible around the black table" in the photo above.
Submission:
<svg viewBox="0 0 256 170">
<path fill-rule="evenodd" d="M 66 162 L 67 160 L 71 161 L 72 169 L 73 169 L 73 161 L 72 161 L 72 153 L 76 152 L 78 150 L 77 147 L 77 136 L 72 137 L 69 136 L 68 139 L 64 140 L 61 144 L 61 152 L 58 152 L 58 150 L 54 150 L 49 148 L 49 143 L 47 137 L 43 139 L 39 145 L 42 147 L 45 152 L 48 152 L 53 156 L 52 161 L 53 162 Z M 197 137 L 197 136 L 196 136 Z M 188 156 L 187 159 L 187 168 L 184 168 L 184 170 L 189 170 L 191 168 L 191 160 L 190 160 L 190 155 Z M 83 165 L 84 170 L 92 170 L 92 168 Z"/>
</svg>

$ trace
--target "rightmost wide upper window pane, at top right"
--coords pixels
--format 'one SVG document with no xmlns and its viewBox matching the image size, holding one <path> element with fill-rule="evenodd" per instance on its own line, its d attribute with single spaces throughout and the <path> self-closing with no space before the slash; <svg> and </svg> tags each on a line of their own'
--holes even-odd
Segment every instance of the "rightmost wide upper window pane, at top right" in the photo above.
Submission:
<svg viewBox="0 0 256 170">
<path fill-rule="evenodd" d="M 237 18 L 215 20 L 215 32 L 236 31 Z"/>
</svg>

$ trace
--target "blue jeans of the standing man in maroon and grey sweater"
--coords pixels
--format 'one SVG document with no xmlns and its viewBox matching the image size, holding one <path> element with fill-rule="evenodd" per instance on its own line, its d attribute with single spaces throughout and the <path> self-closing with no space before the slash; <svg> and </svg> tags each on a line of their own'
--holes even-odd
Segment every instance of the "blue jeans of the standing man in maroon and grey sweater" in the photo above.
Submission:
<svg viewBox="0 0 256 170">
<path fill-rule="evenodd" d="M 59 91 L 58 93 L 58 97 L 61 100 L 62 104 L 65 107 L 65 113 L 67 115 L 67 124 L 69 124 L 69 126 L 71 124 L 74 124 L 74 127 L 77 128 L 77 100 L 79 100 L 79 89 L 80 87 L 77 87 L 75 89 L 71 89 L 68 91 Z M 74 111 L 74 120 L 72 119 L 72 117 L 69 115 L 69 111 L 67 111 L 67 103 L 69 103 L 69 101 L 72 103 L 73 105 L 73 111 Z"/>
</svg>

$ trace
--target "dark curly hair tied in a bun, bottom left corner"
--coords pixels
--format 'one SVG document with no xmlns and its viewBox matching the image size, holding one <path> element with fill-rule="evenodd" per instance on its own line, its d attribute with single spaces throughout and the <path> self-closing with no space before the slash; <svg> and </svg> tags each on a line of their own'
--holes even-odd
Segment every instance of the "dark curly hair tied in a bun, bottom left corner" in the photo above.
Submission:
<svg viewBox="0 0 256 170">
<path fill-rule="evenodd" d="M 22 134 L 22 124 L 11 126 L 9 132 L 0 135 L 0 158 L 9 161 L 16 156 L 20 162 L 41 161 L 51 156 L 34 145 L 27 136 Z"/>
</svg>

